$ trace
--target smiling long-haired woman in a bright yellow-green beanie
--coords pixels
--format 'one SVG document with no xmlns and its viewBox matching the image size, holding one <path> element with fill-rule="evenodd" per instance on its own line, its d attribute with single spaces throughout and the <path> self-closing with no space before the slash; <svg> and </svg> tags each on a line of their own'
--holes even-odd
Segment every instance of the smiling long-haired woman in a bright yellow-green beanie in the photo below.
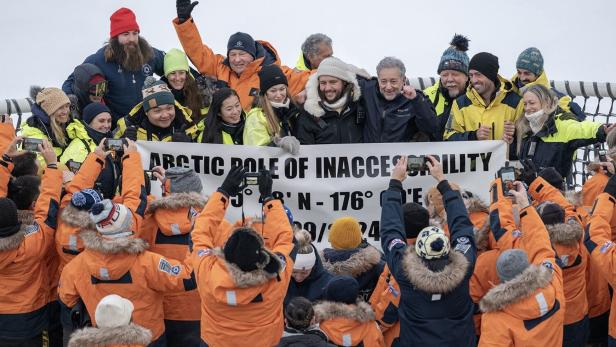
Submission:
<svg viewBox="0 0 616 347">
<path fill-rule="evenodd" d="M 191 117 L 198 123 L 205 117 L 207 108 L 204 108 L 203 97 L 190 73 L 186 54 L 177 48 L 169 50 L 165 54 L 164 69 L 165 76 L 161 80 L 167 83 L 175 100 L 192 111 Z"/>
</svg>

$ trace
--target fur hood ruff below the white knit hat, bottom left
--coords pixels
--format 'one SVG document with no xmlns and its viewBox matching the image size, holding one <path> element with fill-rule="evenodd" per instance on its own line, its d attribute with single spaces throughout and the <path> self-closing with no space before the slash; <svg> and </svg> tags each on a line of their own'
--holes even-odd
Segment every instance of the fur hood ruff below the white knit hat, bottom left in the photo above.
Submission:
<svg viewBox="0 0 616 347">
<path fill-rule="evenodd" d="M 68 347 L 108 346 L 108 345 L 143 345 L 152 341 L 152 332 L 136 324 L 117 328 L 85 328 L 71 335 Z"/>
</svg>

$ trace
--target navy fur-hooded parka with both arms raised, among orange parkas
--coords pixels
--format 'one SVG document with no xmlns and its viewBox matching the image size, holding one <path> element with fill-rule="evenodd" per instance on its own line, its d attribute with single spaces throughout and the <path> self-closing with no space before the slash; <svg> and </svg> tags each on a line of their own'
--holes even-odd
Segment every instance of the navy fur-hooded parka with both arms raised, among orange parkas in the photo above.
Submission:
<svg viewBox="0 0 616 347">
<path fill-rule="evenodd" d="M 450 263 L 441 272 L 428 270 L 406 244 L 400 181 L 392 180 L 382 195 L 381 245 L 401 291 L 400 337 L 394 346 L 475 346 L 475 306 L 469 294 L 477 258 L 473 224 L 460 193 L 447 181 L 437 188 L 451 231 Z"/>
</svg>

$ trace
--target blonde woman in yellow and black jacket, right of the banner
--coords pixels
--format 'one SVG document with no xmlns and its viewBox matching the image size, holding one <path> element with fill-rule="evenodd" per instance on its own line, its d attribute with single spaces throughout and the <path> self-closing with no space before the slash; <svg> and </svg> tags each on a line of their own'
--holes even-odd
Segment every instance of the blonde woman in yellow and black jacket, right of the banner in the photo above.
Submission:
<svg viewBox="0 0 616 347">
<path fill-rule="evenodd" d="M 515 153 L 531 159 L 537 168 L 554 167 L 563 177 L 571 173 L 575 151 L 605 141 L 614 125 L 579 122 L 558 108 L 558 97 L 543 85 L 530 86 L 523 94 L 524 116 L 516 121 Z"/>
</svg>

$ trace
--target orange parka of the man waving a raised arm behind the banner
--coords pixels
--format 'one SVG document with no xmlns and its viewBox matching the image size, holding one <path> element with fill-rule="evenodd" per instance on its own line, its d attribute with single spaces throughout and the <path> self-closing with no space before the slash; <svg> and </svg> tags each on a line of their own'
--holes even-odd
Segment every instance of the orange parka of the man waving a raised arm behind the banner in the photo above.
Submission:
<svg viewBox="0 0 616 347">
<path fill-rule="evenodd" d="M 240 103 L 245 112 L 250 111 L 256 92 L 259 90 L 258 72 L 264 65 L 279 65 L 289 82 L 289 96 L 295 96 L 306 86 L 310 71 L 296 71 L 287 66 L 281 65 L 280 57 L 276 49 L 266 41 L 256 41 L 258 47 L 262 47 L 264 55 L 260 56 L 257 49 L 257 57 L 253 62 L 246 66 L 241 75 L 236 74 L 229 66 L 225 56 L 216 54 L 212 49 L 203 43 L 199 30 L 192 18 L 179 24 L 178 19 L 173 20 L 173 26 L 182 43 L 190 61 L 201 74 L 214 76 L 218 80 L 224 81 L 229 88 L 235 89 L 240 96 Z"/>
</svg>

